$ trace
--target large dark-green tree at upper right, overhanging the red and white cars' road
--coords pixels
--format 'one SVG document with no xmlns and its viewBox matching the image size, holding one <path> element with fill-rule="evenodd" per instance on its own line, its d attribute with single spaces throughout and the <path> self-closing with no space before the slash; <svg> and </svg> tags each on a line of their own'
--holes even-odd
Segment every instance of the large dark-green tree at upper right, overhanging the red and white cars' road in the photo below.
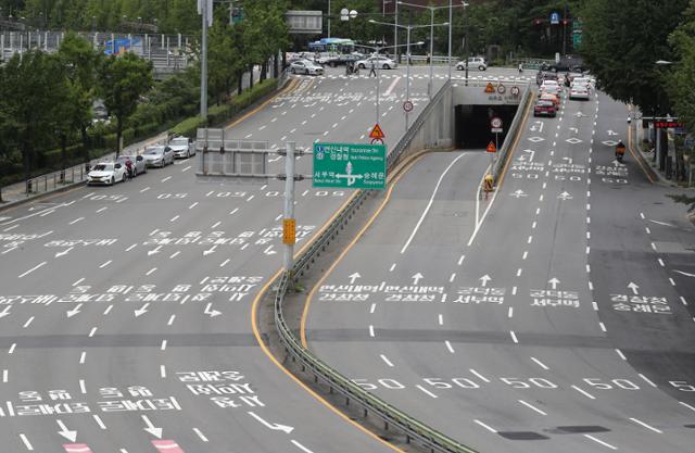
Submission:
<svg viewBox="0 0 695 453">
<path fill-rule="evenodd" d="M 688 0 L 587 0 L 582 54 L 610 97 L 643 112 L 668 111 L 657 60 L 672 58 L 668 36 Z"/>
</svg>

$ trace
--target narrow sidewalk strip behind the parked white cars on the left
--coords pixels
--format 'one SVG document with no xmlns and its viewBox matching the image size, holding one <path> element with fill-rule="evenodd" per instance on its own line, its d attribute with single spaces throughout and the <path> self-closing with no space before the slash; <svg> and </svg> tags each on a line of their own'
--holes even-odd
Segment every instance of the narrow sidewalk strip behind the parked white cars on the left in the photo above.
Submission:
<svg viewBox="0 0 695 453">
<path fill-rule="evenodd" d="M 254 83 L 257 83 L 261 78 L 260 67 L 256 66 L 254 71 Z M 249 73 L 244 73 L 244 78 L 242 80 L 242 86 L 244 89 L 249 87 Z M 233 96 L 237 96 L 236 92 Z M 136 143 L 131 143 L 123 149 L 121 154 L 125 155 L 136 155 L 141 154 L 144 151 L 144 148 L 154 144 L 157 142 L 165 142 L 167 138 L 167 131 L 163 131 L 154 137 L 147 138 L 142 141 L 138 141 Z M 94 159 L 90 161 L 90 166 L 93 166 L 98 162 L 102 161 L 113 161 L 116 156 L 115 151 L 109 154 L 102 155 L 99 159 Z M 27 193 L 27 183 L 26 180 L 21 183 L 15 183 L 5 187 L 2 187 L 2 202 L 0 203 L 0 211 L 8 210 L 12 206 L 15 206 L 21 203 L 25 203 L 29 200 L 35 200 L 45 197 L 48 193 L 61 192 L 64 190 L 68 190 L 73 187 L 80 186 L 85 184 L 87 180 L 87 174 L 85 172 L 85 165 L 76 165 L 73 167 L 65 168 L 65 181 L 60 181 L 61 172 L 52 172 L 46 175 L 37 176 L 36 178 L 29 179 L 31 181 L 31 192 Z"/>
</svg>

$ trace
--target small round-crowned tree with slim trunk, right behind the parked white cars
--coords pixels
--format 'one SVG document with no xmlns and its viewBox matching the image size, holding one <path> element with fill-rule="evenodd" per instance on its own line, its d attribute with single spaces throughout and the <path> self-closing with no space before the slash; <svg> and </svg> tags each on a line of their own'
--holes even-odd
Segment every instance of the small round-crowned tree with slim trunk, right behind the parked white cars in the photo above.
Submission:
<svg viewBox="0 0 695 453">
<path fill-rule="evenodd" d="M 99 92 L 116 117 L 116 155 L 122 151 L 125 123 L 135 113 L 142 95 L 152 88 L 152 63 L 135 53 L 104 58 L 98 72 Z"/>
</svg>

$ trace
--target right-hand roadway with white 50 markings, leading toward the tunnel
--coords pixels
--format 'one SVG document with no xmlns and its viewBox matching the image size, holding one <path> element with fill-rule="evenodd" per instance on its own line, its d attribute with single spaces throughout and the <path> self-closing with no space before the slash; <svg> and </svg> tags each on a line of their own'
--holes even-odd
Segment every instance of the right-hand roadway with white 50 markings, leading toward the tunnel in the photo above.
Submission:
<svg viewBox="0 0 695 453">
<path fill-rule="evenodd" d="M 480 452 L 691 451 L 695 231 L 614 162 L 624 118 L 529 117 L 488 201 L 482 152 L 422 158 L 312 290 L 308 347 Z"/>
</svg>

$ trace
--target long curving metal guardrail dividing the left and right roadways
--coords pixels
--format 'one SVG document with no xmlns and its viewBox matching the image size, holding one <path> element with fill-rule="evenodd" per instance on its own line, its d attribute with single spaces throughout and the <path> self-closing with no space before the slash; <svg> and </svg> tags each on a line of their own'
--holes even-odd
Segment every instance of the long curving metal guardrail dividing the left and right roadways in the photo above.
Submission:
<svg viewBox="0 0 695 453">
<path fill-rule="evenodd" d="M 425 123 L 431 109 L 438 101 L 450 93 L 450 83 L 446 83 L 437 93 L 432 101 L 422 110 L 413 127 L 401 138 L 396 147 L 387 158 L 388 168 L 393 169 L 399 162 L 399 158 L 406 151 L 408 144 Z M 295 261 L 290 272 L 286 272 L 280 277 L 275 295 L 275 325 L 287 351 L 292 354 L 304 367 L 308 368 L 318 379 L 330 386 L 331 389 L 340 392 L 348 400 L 357 402 L 365 411 L 381 418 L 387 426 L 392 425 L 401 429 L 408 441 L 410 439 L 420 442 L 431 451 L 443 453 L 476 453 L 475 450 L 457 442 L 456 440 L 430 428 L 426 424 L 405 414 L 380 398 L 364 390 L 336 369 L 315 357 L 307 349 L 302 347 L 300 340 L 288 326 L 282 312 L 285 294 L 291 281 L 301 276 L 304 270 L 316 259 L 318 253 L 326 249 L 329 242 L 339 234 L 344 225 L 352 218 L 355 211 L 364 203 L 371 191 L 361 190 L 352 197 L 348 205 L 336 216 L 333 222 L 325 228 L 320 235 L 312 242 L 312 246 L 302 253 Z"/>
</svg>

